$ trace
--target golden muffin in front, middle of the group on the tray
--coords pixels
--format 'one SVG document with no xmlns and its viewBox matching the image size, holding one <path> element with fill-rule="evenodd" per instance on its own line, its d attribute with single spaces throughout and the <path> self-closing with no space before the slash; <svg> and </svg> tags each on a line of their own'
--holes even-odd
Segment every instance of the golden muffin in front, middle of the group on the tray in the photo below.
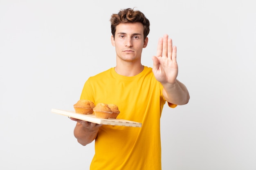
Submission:
<svg viewBox="0 0 256 170">
<path fill-rule="evenodd" d="M 98 103 L 93 108 L 94 114 L 98 118 L 108 119 L 112 115 L 112 110 L 108 107 L 107 104 Z"/>
</svg>

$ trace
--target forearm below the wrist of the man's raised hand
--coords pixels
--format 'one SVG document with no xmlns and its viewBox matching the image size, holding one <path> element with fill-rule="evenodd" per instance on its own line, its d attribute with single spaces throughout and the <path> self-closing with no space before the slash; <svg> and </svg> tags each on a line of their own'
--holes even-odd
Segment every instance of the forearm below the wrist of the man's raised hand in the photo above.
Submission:
<svg viewBox="0 0 256 170">
<path fill-rule="evenodd" d="M 189 91 L 186 86 L 176 79 L 173 84 L 162 84 L 163 95 L 167 102 L 177 105 L 184 105 L 189 102 Z"/>
</svg>

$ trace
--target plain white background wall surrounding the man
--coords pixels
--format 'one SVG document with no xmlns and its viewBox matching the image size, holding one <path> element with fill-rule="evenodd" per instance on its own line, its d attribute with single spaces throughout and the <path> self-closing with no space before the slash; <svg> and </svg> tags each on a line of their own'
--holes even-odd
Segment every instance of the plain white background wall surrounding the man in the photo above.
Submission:
<svg viewBox="0 0 256 170">
<path fill-rule="evenodd" d="M 191 95 L 164 107 L 162 169 L 255 170 L 253 0 L 0 0 L 0 169 L 89 169 L 94 143 L 51 109 L 73 110 L 86 79 L 115 66 L 109 19 L 128 7 L 151 24 L 142 64 L 168 33 Z"/>
</svg>

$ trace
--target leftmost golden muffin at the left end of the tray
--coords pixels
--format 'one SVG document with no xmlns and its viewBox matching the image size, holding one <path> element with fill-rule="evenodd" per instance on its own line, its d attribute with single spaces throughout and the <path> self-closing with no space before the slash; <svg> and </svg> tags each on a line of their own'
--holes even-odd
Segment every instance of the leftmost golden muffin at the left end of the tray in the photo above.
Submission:
<svg viewBox="0 0 256 170">
<path fill-rule="evenodd" d="M 93 113 L 92 106 L 94 106 L 92 101 L 81 99 L 74 104 L 74 109 L 76 113 L 87 115 L 88 113 Z"/>
</svg>

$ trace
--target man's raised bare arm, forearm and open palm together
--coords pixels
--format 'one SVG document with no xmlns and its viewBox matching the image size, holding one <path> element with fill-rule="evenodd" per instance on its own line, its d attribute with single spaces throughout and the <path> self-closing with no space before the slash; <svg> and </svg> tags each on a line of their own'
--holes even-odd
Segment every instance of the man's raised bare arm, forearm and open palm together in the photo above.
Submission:
<svg viewBox="0 0 256 170">
<path fill-rule="evenodd" d="M 164 35 L 157 45 L 157 56 L 153 56 L 153 73 L 164 87 L 163 95 L 167 102 L 177 105 L 189 102 L 189 92 L 184 84 L 177 80 L 178 65 L 176 61 L 177 48 L 171 38 Z"/>
</svg>

